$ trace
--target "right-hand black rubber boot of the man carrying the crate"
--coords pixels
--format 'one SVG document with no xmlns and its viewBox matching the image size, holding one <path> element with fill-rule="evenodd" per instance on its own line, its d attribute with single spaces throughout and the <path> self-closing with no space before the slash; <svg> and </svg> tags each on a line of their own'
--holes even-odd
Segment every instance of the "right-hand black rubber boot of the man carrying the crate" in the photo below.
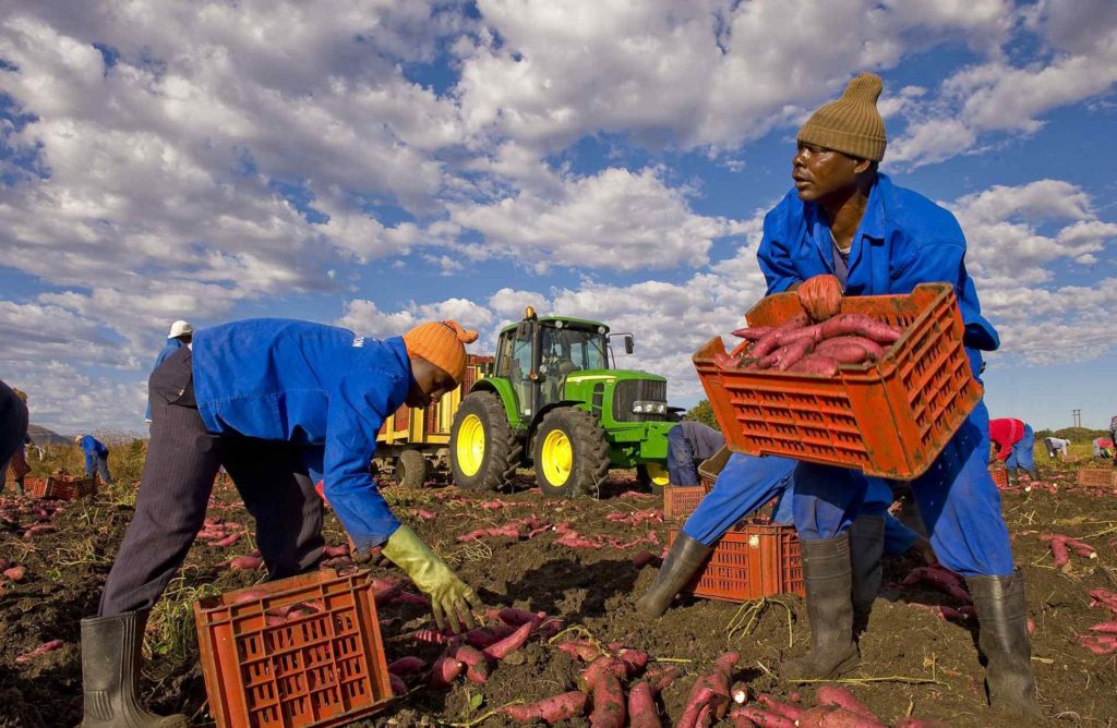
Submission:
<svg viewBox="0 0 1117 728">
<path fill-rule="evenodd" d="M 985 654 L 985 684 L 993 710 L 1046 725 L 1035 705 L 1024 577 L 971 576 L 966 579 L 980 624 L 977 644 Z"/>
</svg>

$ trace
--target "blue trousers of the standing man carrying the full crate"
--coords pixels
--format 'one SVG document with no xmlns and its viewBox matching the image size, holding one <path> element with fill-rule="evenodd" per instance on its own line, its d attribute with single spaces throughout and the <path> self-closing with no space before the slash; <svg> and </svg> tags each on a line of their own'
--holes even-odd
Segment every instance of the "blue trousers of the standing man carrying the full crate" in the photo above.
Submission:
<svg viewBox="0 0 1117 728">
<path fill-rule="evenodd" d="M 978 402 L 930 468 L 910 483 L 935 554 L 963 576 L 1009 576 L 1013 569 L 989 452 L 989 411 Z M 800 538 L 834 538 L 862 513 L 867 483 L 860 472 L 801 462 L 794 478 Z"/>
</svg>

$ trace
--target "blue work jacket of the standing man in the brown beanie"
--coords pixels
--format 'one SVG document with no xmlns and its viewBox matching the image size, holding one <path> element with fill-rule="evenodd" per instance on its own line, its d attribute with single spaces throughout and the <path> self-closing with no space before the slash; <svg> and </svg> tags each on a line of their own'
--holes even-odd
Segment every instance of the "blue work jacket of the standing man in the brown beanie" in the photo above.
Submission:
<svg viewBox="0 0 1117 728">
<path fill-rule="evenodd" d="M 878 173 L 850 248 L 846 295 L 909 294 L 919 284 L 951 284 L 965 324 L 963 343 L 970 349 L 992 352 L 1001 339 L 981 315 L 965 255 L 965 236 L 949 211 Z M 756 257 L 768 294 L 812 276 L 833 275 L 833 242 L 822 208 L 801 201 L 794 189 L 787 192 L 764 218 Z M 975 358 L 980 361 L 971 352 Z"/>
</svg>

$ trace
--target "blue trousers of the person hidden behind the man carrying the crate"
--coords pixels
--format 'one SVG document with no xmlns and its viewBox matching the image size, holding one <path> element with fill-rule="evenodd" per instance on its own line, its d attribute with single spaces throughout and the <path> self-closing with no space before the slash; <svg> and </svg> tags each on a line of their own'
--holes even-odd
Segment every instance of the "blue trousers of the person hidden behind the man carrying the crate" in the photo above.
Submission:
<svg viewBox="0 0 1117 728">
<path fill-rule="evenodd" d="M 772 523 L 793 523 L 794 473 L 798 464 L 798 461 L 787 458 L 732 454 L 718 475 L 714 489 L 682 525 L 682 533 L 710 546 L 737 521 L 773 498 L 779 498 L 780 501 Z M 862 513 L 885 517 L 886 554 L 899 556 L 907 553 L 917 538 L 915 531 L 888 513 L 892 502 L 892 491 L 888 485 L 878 478 L 868 481 Z"/>
</svg>

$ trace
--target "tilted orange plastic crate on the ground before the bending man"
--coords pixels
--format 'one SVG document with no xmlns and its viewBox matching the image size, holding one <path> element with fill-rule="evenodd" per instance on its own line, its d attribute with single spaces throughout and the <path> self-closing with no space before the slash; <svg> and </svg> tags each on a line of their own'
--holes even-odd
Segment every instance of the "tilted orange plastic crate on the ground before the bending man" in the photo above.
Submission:
<svg viewBox="0 0 1117 728">
<path fill-rule="evenodd" d="M 249 591 L 266 595 L 236 603 Z M 270 610 L 306 602 L 322 611 L 268 624 Z M 392 697 L 367 572 L 323 569 L 201 600 L 194 624 L 219 728 L 342 726 Z"/>
</svg>

